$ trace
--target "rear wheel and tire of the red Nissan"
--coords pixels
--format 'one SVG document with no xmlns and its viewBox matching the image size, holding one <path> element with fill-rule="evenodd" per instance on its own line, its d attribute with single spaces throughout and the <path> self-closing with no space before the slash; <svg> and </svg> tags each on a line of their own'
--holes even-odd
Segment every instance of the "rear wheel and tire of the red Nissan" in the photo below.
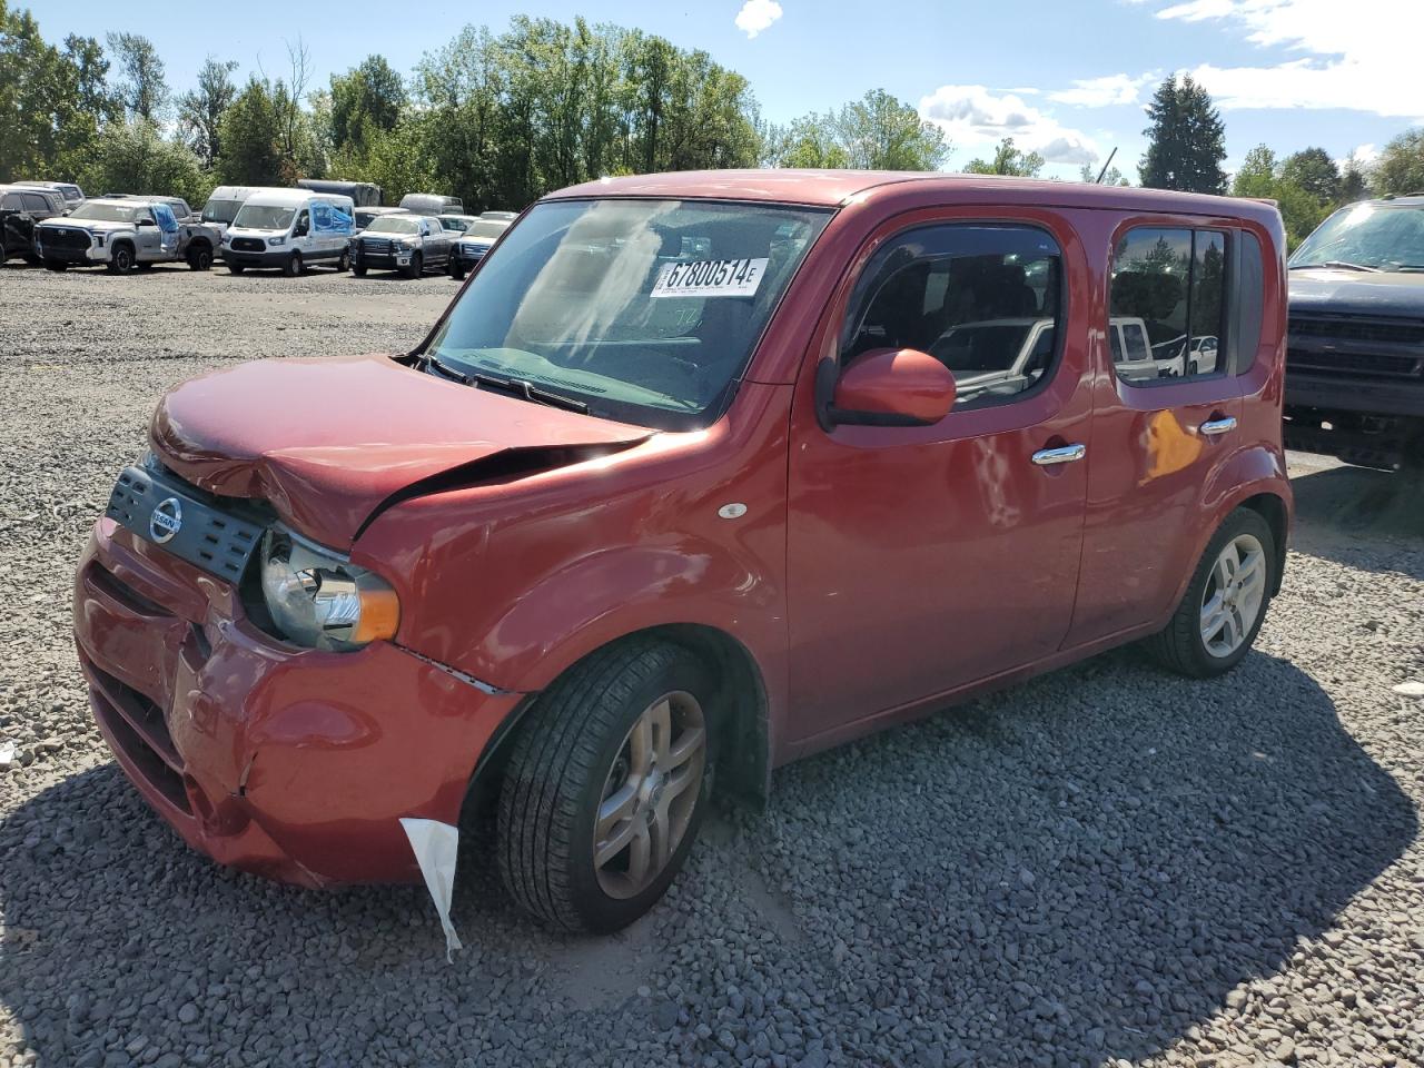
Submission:
<svg viewBox="0 0 1424 1068">
<path fill-rule="evenodd" d="M 1276 538 L 1250 508 L 1237 508 L 1202 553 L 1172 621 L 1148 638 L 1163 668 L 1206 679 L 1235 668 L 1250 652 L 1276 581 Z"/>
</svg>

